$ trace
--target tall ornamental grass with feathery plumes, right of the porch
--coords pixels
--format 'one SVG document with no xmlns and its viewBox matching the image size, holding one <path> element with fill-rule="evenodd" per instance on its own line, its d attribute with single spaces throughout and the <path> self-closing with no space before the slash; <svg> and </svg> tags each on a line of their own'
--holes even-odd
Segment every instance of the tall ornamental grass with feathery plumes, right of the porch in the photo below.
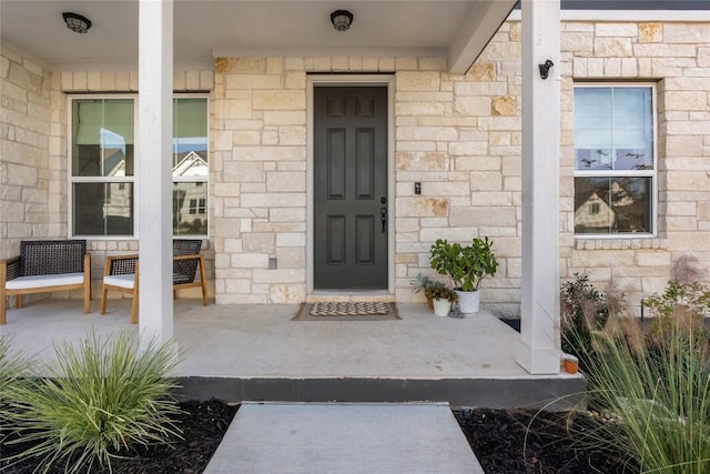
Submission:
<svg viewBox="0 0 710 474">
<path fill-rule="evenodd" d="M 646 301 L 650 327 L 617 307 L 602 329 L 567 332 L 587 359 L 590 403 L 606 413 L 591 441 L 628 446 L 645 473 L 710 472 L 710 293 L 688 265 L 677 262 L 666 291 Z"/>
</svg>

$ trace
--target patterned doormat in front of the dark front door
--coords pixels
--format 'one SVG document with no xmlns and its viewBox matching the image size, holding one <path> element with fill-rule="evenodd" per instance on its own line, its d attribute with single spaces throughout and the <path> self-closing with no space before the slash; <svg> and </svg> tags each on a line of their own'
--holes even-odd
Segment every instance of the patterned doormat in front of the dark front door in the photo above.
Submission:
<svg viewBox="0 0 710 474">
<path fill-rule="evenodd" d="M 395 303 L 374 301 L 305 303 L 294 321 L 387 321 L 399 320 Z"/>
</svg>

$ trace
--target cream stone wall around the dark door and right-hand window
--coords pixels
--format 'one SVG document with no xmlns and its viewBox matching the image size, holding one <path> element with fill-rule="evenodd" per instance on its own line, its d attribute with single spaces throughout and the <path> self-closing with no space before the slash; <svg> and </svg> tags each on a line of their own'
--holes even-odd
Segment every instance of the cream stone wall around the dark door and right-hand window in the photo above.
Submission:
<svg viewBox="0 0 710 474">
<path fill-rule="evenodd" d="M 438 58 L 219 58 L 213 211 L 219 303 L 306 297 L 306 74 L 396 74 L 396 300 L 428 269 L 438 236 L 489 235 L 499 272 L 483 303 L 519 314 L 520 23 L 508 21 L 463 75 Z M 632 305 L 660 291 L 671 262 L 710 262 L 710 26 L 562 26 L 560 271 L 613 282 Z M 579 239 L 574 230 L 575 80 L 643 80 L 659 92 L 657 239 Z M 414 182 L 423 183 L 414 195 Z M 692 232 L 690 232 L 692 231 Z M 276 258 L 277 270 L 268 270 Z"/>
</svg>

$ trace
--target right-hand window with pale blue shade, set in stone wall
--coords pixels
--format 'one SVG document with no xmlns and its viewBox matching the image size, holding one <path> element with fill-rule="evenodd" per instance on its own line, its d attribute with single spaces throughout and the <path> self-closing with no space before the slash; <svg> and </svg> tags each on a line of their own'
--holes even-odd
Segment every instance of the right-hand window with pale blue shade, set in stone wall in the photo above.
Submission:
<svg viewBox="0 0 710 474">
<path fill-rule="evenodd" d="M 656 88 L 575 85 L 575 234 L 653 235 Z"/>
</svg>

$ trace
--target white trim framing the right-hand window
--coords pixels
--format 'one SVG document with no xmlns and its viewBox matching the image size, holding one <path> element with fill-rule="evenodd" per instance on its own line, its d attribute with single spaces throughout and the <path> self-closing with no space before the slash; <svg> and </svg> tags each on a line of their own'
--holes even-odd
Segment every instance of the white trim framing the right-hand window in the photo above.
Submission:
<svg viewBox="0 0 710 474">
<path fill-rule="evenodd" d="M 651 178 L 651 231 L 643 233 L 607 233 L 607 234 L 578 234 L 575 233 L 575 212 L 572 206 L 572 233 L 576 240 L 630 240 L 630 239 L 657 239 L 658 238 L 658 221 L 660 219 L 659 215 L 659 206 L 658 206 L 658 84 L 656 82 L 613 82 L 613 81 L 599 81 L 599 82 L 575 82 L 572 85 L 572 95 L 575 93 L 575 89 L 582 88 L 649 88 L 651 89 L 651 100 L 652 100 L 652 127 L 653 127 L 653 169 L 652 170 L 622 170 L 622 171 L 605 171 L 602 174 L 605 177 L 615 178 L 615 177 L 650 177 Z M 574 103 L 574 101 L 572 101 Z M 572 110 L 574 113 L 574 110 Z M 576 131 L 572 128 L 572 131 Z M 577 152 L 577 147 L 575 144 L 575 153 Z M 584 178 L 584 177 L 599 177 L 599 171 L 578 171 L 576 164 L 572 165 L 574 174 L 572 178 Z M 629 171 L 632 171 L 629 174 Z M 574 180 L 572 180 L 574 183 Z M 574 186 L 574 184 L 572 184 Z M 574 191 L 574 190 L 572 190 Z"/>
</svg>

